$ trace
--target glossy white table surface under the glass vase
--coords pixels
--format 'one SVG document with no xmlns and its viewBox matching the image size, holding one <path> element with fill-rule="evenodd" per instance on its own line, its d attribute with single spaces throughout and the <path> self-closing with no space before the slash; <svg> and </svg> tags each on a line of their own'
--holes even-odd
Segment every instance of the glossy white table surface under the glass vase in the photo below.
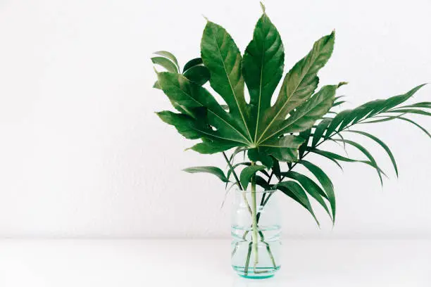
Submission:
<svg viewBox="0 0 431 287">
<path fill-rule="evenodd" d="M 0 286 L 431 286 L 431 241 L 283 241 L 272 279 L 239 278 L 227 240 L 0 240 Z"/>
</svg>

